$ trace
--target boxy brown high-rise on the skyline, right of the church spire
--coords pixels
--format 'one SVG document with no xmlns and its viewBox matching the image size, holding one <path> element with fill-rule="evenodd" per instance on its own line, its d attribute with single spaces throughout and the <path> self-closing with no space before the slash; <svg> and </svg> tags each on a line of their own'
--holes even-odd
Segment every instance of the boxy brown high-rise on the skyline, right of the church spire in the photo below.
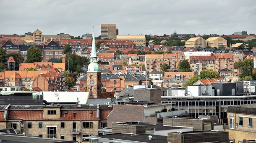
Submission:
<svg viewBox="0 0 256 143">
<path fill-rule="evenodd" d="M 115 24 L 102 24 L 101 25 L 101 38 L 116 39 L 117 29 Z"/>
</svg>

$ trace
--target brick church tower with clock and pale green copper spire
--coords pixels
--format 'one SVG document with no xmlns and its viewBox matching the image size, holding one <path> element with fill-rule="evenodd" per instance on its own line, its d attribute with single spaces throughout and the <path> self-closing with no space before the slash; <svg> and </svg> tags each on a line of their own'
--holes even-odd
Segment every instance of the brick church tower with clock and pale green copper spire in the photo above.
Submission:
<svg viewBox="0 0 256 143">
<path fill-rule="evenodd" d="M 97 51 L 95 45 L 94 28 L 92 33 L 91 60 L 87 71 L 87 90 L 89 90 L 89 98 L 98 98 L 101 95 L 101 72 L 97 63 Z"/>
</svg>

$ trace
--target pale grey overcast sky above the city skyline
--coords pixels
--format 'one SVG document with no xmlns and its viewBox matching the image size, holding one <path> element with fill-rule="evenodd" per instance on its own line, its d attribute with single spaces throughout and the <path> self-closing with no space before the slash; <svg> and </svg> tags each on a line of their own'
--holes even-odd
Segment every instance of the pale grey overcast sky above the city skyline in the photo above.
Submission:
<svg viewBox="0 0 256 143">
<path fill-rule="evenodd" d="M 0 34 L 119 35 L 256 33 L 256 0 L 0 0 Z"/>
</svg>

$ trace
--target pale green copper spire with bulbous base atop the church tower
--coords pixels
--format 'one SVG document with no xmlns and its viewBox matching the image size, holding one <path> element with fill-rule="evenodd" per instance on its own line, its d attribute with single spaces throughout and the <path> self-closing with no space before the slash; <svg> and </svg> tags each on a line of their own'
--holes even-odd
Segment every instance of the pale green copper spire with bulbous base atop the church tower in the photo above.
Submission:
<svg viewBox="0 0 256 143">
<path fill-rule="evenodd" d="M 96 51 L 96 45 L 95 45 L 95 37 L 94 37 L 94 27 L 92 32 L 92 45 L 91 45 L 91 60 L 90 64 L 88 65 L 88 71 L 87 72 L 100 72 L 99 64 L 97 63 L 97 51 Z"/>
</svg>

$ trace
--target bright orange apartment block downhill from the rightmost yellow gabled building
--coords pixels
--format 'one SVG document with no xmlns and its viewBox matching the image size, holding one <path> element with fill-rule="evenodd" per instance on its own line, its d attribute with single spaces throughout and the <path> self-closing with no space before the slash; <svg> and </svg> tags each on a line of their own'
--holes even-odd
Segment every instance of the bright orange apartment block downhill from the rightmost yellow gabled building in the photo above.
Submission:
<svg viewBox="0 0 256 143">
<path fill-rule="evenodd" d="M 222 69 L 234 70 L 234 63 L 239 59 L 233 56 L 232 53 L 213 53 L 215 59 L 215 71 Z"/>
</svg>

